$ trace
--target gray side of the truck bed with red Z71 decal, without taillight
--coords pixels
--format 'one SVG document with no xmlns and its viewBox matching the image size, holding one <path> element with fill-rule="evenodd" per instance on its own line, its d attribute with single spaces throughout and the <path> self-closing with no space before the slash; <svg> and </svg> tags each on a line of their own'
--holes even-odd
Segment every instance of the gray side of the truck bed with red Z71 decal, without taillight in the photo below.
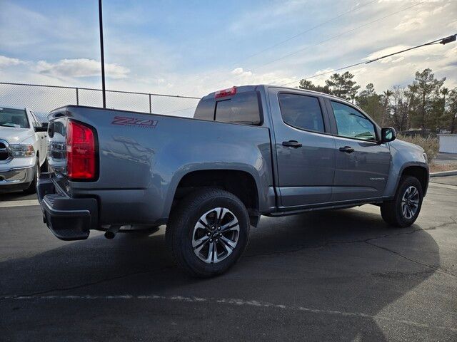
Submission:
<svg viewBox="0 0 457 342">
<path fill-rule="evenodd" d="M 64 155 L 53 151 L 62 144 L 59 134 L 51 139 L 49 164 L 67 195 L 102 203 L 99 224 L 165 223 L 181 179 L 201 170 L 248 172 L 258 185 L 260 210 L 274 206 L 268 128 L 74 105 L 54 110 L 50 118 L 61 133 L 69 119 L 96 128 L 96 180 L 65 177 Z"/>
</svg>

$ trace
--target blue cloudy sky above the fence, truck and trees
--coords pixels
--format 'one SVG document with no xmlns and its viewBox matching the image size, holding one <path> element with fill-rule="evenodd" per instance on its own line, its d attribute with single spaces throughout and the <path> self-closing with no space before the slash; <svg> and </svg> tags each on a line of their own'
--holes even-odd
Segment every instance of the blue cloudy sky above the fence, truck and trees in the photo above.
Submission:
<svg viewBox="0 0 457 342">
<path fill-rule="evenodd" d="M 0 0 L 0 81 L 101 88 L 98 25 L 96 0 Z M 453 33 L 457 0 L 104 0 L 106 88 L 282 85 Z M 382 92 L 425 68 L 456 87 L 457 43 L 349 71 Z"/>
</svg>

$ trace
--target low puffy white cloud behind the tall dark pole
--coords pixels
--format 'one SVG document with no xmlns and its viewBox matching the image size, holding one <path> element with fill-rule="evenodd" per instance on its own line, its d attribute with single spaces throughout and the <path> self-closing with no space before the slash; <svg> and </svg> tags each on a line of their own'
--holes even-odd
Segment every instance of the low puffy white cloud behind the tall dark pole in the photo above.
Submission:
<svg viewBox="0 0 457 342">
<path fill-rule="evenodd" d="M 62 59 L 57 63 L 39 61 L 35 69 L 39 73 L 58 78 L 91 77 L 100 75 L 100 62 L 87 58 Z M 114 63 L 105 63 L 105 73 L 110 78 L 126 78 L 129 69 Z"/>
</svg>

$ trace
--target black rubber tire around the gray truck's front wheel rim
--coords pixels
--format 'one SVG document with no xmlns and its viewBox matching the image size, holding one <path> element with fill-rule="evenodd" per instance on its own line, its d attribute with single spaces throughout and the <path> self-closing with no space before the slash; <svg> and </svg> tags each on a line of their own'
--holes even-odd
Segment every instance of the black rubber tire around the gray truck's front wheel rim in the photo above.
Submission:
<svg viewBox="0 0 457 342">
<path fill-rule="evenodd" d="M 411 189 L 411 187 L 416 188 L 418 191 L 418 206 L 416 212 L 414 212 L 411 217 L 406 217 L 403 214 L 402 210 L 402 199 L 403 195 L 406 195 L 406 191 Z M 419 212 L 421 212 L 423 200 L 423 191 L 421 182 L 416 177 L 413 176 L 403 176 L 400 179 L 398 188 L 395 194 L 395 197 L 391 201 L 386 201 L 381 204 L 381 216 L 383 220 L 388 224 L 394 227 L 409 227 L 413 224 Z M 411 213 L 410 213 L 411 214 Z"/>
</svg>

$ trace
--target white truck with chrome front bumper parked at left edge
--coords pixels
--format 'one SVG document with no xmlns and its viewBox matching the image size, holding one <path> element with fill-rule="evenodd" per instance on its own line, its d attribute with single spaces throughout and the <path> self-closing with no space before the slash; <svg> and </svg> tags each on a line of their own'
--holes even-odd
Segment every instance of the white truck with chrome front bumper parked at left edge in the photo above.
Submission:
<svg viewBox="0 0 457 342">
<path fill-rule="evenodd" d="M 36 191 L 46 162 L 47 123 L 27 108 L 0 106 L 0 192 Z"/>
</svg>

